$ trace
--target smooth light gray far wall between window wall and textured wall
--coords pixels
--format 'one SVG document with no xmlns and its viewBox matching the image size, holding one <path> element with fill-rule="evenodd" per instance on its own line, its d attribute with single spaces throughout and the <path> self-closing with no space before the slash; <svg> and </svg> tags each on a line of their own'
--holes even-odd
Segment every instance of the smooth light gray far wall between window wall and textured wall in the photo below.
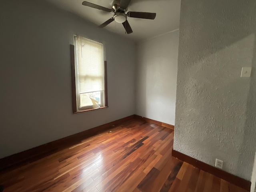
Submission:
<svg viewBox="0 0 256 192">
<path fill-rule="evenodd" d="M 174 125 L 179 32 L 138 44 L 136 114 Z"/>
</svg>

